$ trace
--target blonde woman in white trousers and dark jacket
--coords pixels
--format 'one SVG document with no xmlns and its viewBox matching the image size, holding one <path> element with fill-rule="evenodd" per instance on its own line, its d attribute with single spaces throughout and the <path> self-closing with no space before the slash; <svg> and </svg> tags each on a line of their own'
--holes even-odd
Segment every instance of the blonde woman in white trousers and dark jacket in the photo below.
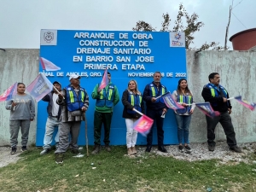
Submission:
<svg viewBox="0 0 256 192">
<path fill-rule="evenodd" d="M 133 125 L 141 115 L 133 111 L 133 109 L 135 108 L 137 111 L 144 113 L 144 103 L 141 92 L 137 90 L 136 80 L 129 81 L 128 88 L 123 92 L 122 102 L 124 105 L 123 118 L 125 118 L 127 128 L 127 153 L 128 155 L 137 154 L 137 150 L 135 148 L 137 142 L 137 131 L 133 129 Z"/>
</svg>

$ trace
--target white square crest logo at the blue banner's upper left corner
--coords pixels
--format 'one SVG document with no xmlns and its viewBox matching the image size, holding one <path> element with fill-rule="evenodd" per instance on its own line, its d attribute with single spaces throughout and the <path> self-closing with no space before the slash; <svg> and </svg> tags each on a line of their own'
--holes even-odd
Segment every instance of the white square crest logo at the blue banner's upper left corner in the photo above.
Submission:
<svg viewBox="0 0 256 192">
<path fill-rule="evenodd" d="M 57 30 L 41 30 L 41 45 L 57 45 Z"/>
</svg>

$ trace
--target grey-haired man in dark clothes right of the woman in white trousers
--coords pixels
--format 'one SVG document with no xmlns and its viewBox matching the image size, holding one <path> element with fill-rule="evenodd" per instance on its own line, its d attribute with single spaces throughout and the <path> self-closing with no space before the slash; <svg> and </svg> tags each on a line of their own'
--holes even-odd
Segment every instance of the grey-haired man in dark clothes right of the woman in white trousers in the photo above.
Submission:
<svg viewBox="0 0 256 192">
<path fill-rule="evenodd" d="M 166 148 L 164 147 L 164 116 L 167 112 L 166 104 L 162 97 L 156 99 L 155 97 L 161 96 L 167 92 L 166 87 L 160 83 L 161 73 L 154 73 L 154 81 L 150 84 L 147 84 L 143 92 L 143 100 L 147 105 L 147 115 L 149 118 L 154 119 L 157 127 L 157 140 L 158 140 L 158 149 L 161 152 L 167 153 Z M 153 140 L 153 125 L 147 136 L 147 148 L 146 152 L 150 152 L 152 148 Z"/>
</svg>

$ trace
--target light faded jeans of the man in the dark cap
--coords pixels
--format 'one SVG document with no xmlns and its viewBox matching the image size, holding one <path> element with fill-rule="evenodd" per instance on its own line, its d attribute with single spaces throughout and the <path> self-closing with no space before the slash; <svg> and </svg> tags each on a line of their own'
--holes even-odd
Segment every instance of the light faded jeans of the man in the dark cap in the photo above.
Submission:
<svg viewBox="0 0 256 192">
<path fill-rule="evenodd" d="M 50 148 L 50 144 L 52 143 L 52 137 L 53 137 L 55 128 L 58 128 L 59 125 L 60 125 L 60 121 L 58 119 L 50 118 L 50 117 L 47 118 L 43 148 Z M 55 143 L 59 143 L 59 130 L 55 136 Z"/>
</svg>

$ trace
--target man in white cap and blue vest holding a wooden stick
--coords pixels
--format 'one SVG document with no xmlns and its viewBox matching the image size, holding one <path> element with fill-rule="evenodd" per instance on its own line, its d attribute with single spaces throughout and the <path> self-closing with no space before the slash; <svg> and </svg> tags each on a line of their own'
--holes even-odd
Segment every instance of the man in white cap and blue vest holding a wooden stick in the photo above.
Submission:
<svg viewBox="0 0 256 192">
<path fill-rule="evenodd" d="M 59 94 L 57 104 L 61 105 L 60 142 L 55 151 L 55 162 L 63 163 L 64 153 L 69 145 L 73 154 L 79 154 L 78 137 L 81 121 L 89 107 L 89 96 L 86 90 L 80 87 L 80 76 L 72 74 L 69 77 L 70 84 Z M 71 143 L 69 143 L 71 133 Z"/>
</svg>

